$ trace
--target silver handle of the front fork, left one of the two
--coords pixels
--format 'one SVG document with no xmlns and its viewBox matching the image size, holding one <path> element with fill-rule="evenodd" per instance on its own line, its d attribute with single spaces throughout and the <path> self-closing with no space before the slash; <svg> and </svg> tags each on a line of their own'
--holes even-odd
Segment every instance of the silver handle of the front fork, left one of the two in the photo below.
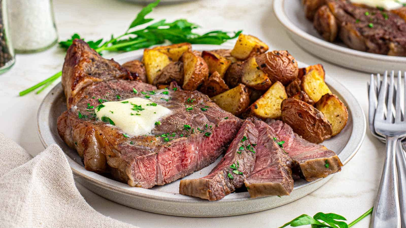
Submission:
<svg viewBox="0 0 406 228">
<path fill-rule="evenodd" d="M 386 159 L 372 211 L 371 227 L 373 228 L 400 228 L 399 195 L 395 168 L 396 142 L 397 137 L 386 137 Z"/>
</svg>

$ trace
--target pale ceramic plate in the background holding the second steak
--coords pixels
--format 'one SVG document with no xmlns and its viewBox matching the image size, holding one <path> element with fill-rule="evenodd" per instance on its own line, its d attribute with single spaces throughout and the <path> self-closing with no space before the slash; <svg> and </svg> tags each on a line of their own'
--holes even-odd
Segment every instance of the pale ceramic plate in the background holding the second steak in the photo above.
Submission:
<svg viewBox="0 0 406 228">
<path fill-rule="evenodd" d="M 406 57 L 361 52 L 325 41 L 305 16 L 300 0 L 274 0 L 274 13 L 292 40 L 310 54 L 342 67 L 368 73 L 404 71 Z"/>
</svg>

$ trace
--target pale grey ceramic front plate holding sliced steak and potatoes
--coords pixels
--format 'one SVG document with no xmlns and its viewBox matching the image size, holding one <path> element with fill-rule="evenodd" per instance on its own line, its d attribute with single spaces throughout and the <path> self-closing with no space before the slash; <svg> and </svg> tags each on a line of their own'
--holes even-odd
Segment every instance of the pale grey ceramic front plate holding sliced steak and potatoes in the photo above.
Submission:
<svg viewBox="0 0 406 228">
<path fill-rule="evenodd" d="M 217 45 L 193 45 L 194 50 L 212 50 L 226 48 Z M 140 60 L 143 50 L 128 52 L 115 56 L 114 60 L 124 63 L 130 60 Z M 303 63 L 298 62 L 300 67 Z M 358 151 L 365 136 L 365 115 L 355 97 L 344 86 L 326 75 L 326 83 L 341 101 L 348 107 L 348 123 L 341 133 L 324 141 L 327 148 L 335 151 L 343 164 L 346 164 Z M 108 179 L 95 172 L 87 171 L 75 150 L 69 148 L 59 137 L 56 130 L 56 120 L 66 110 L 65 95 L 60 84 L 56 85 L 44 98 L 38 110 L 38 132 L 45 147 L 52 143 L 58 144 L 67 155 L 73 174 L 78 176 L 75 180 L 87 189 L 114 202 L 124 204 L 136 209 L 166 215 L 179 215 L 190 217 L 219 217 L 228 215 L 241 215 L 271 209 L 287 204 L 321 187 L 333 175 L 313 182 L 304 180 L 295 181 L 294 190 L 290 196 L 268 196 L 251 199 L 248 192 L 235 192 L 222 200 L 209 202 L 192 196 L 179 194 L 179 180 L 164 186 L 155 186 L 151 189 L 130 187 L 127 184 Z M 221 156 L 220 156 L 221 157 Z M 194 179 L 207 175 L 220 161 L 218 158 L 210 166 L 194 172 L 184 179 Z M 343 167 L 345 169 L 345 167 Z"/>
</svg>

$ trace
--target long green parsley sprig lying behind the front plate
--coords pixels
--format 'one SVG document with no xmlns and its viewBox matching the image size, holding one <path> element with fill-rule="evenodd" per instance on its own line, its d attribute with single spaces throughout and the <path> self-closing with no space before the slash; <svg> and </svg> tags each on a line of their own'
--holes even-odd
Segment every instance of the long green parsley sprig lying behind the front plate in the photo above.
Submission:
<svg viewBox="0 0 406 228">
<path fill-rule="evenodd" d="M 141 48 L 150 47 L 152 45 L 170 43 L 182 43 L 188 42 L 192 44 L 222 44 L 229 39 L 234 39 L 242 32 L 224 32 L 224 31 L 211 31 L 205 34 L 197 34 L 192 32 L 195 28 L 199 28 L 197 24 L 188 22 L 186 19 L 178 19 L 174 22 L 166 22 L 165 19 L 155 22 L 145 28 L 139 28 L 138 26 L 147 24 L 154 19 L 145 18 L 145 16 L 155 8 L 160 0 L 157 0 L 151 4 L 145 6 L 138 13 L 136 18 L 131 22 L 127 30 L 117 36 L 113 35 L 110 40 L 104 41 L 104 39 L 98 39 L 96 41 L 86 41 L 89 46 L 96 50 L 96 52 L 108 51 L 108 52 L 129 52 Z M 72 37 L 66 41 L 60 41 L 59 46 L 63 49 L 68 49 L 72 45 L 74 39 L 83 39 L 79 34 L 75 33 Z M 103 42 L 104 41 L 104 42 Z M 42 90 L 47 88 L 62 75 L 62 72 L 58 72 L 48 79 L 32 86 L 24 91 L 19 92 L 20 96 L 26 95 L 29 92 L 43 86 L 37 91 L 39 94 Z"/>
</svg>

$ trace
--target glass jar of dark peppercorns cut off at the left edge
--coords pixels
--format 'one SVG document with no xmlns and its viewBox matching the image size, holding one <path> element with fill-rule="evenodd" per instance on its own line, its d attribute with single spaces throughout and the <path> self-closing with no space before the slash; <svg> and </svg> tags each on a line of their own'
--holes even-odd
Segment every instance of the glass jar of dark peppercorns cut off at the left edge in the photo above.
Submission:
<svg viewBox="0 0 406 228">
<path fill-rule="evenodd" d="M 8 71 L 14 65 L 14 49 L 11 45 L 7 2 L 0 0 L 0 73 Z"/>
</svg>

